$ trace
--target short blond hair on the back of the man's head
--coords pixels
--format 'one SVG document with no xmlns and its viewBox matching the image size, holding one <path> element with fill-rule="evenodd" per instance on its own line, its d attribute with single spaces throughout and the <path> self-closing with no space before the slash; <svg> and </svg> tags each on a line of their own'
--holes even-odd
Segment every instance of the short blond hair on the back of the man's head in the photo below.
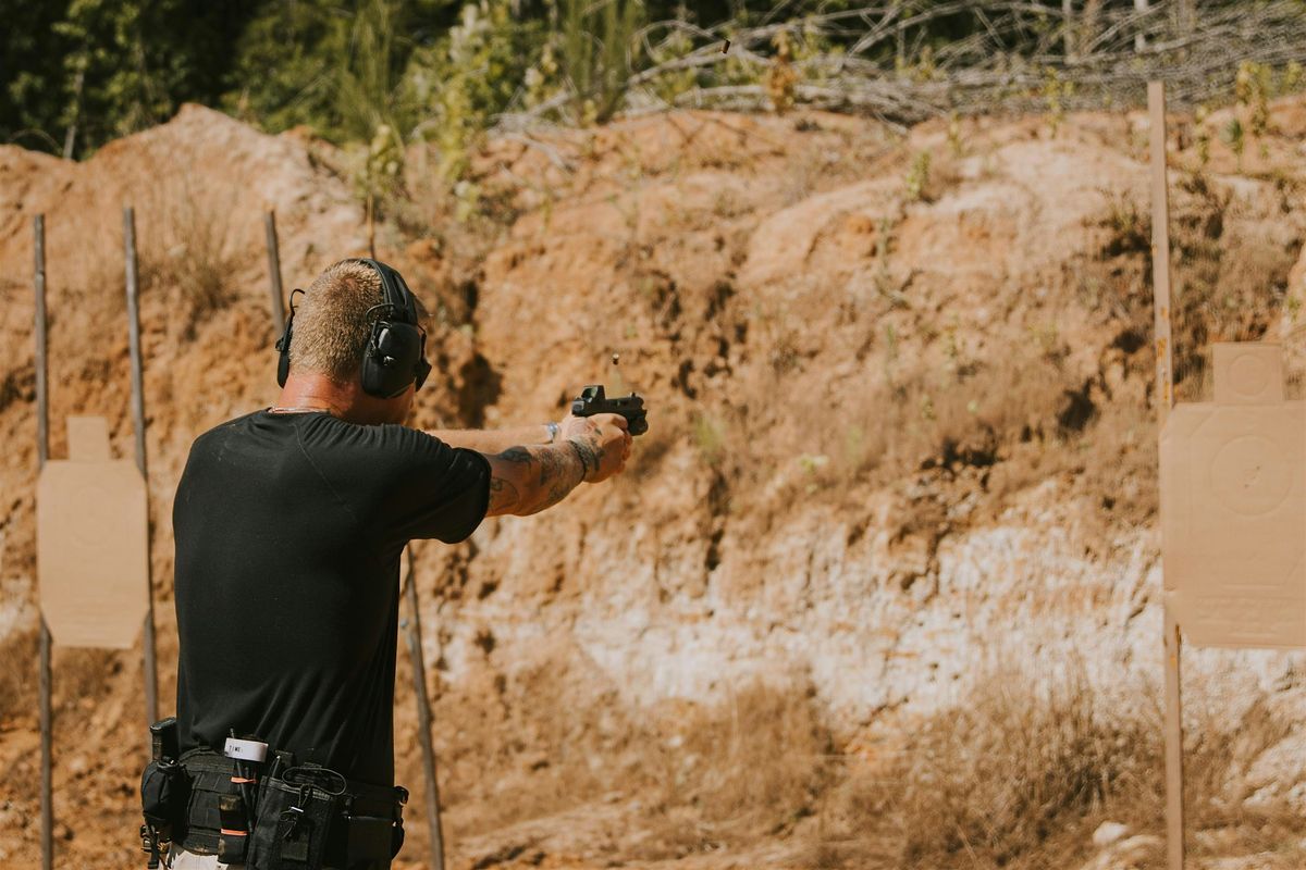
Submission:
<svg viewBox="0 0 1306 870">
<path fill-rule="evenodd" d="M 328 266 L 295 308 L 290 370 L 341 382 L 357 378 L 379 313 L 367 312 L 381 301 L 381 277 L 367 263 L 341 260 Z"/>
</svg>

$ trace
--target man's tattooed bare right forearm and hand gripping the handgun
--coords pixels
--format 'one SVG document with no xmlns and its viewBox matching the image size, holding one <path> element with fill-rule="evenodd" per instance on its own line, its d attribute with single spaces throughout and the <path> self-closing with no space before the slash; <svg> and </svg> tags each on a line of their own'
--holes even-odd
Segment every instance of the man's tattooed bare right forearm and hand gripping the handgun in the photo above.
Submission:
<svg viewBox="0 0 1306 870">
<path fill-rule="evenodd" d="M 528 517 L 552 507 L 581 481 L 598 483 L 620 473 L 631 451 L 626 419 L 615 413 L 567 417 L 559 442 L 513 445 L 490 462 L 487 517 Z"/>
</svg>

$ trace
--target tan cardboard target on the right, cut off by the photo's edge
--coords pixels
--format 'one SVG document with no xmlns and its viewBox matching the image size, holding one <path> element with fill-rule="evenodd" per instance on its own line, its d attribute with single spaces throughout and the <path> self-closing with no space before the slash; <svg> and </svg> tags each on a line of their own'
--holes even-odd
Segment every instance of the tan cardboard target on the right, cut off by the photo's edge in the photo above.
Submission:
<svg viewBox="0 0 1306 870">
<path fill-rule="evenodd" d="M 1161 433 L 1165 596 L 1191 643 L 1306 647 L 1306 403 L 1277 344 L 1215 346 L 1215 402 Z"/>
</svg>

